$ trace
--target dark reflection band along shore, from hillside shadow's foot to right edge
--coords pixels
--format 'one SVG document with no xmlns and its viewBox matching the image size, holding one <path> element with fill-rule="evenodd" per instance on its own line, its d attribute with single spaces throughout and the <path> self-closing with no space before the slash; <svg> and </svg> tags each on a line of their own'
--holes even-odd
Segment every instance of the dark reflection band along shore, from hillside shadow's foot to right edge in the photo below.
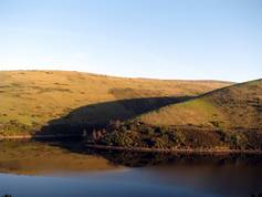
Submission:
<svg viewBox="0 0 262 197">
<path fill-rule="evenodd" d="M 166 164 L 182 165 L 247 165 L 261 166 L 262 156 L 252 154 L 175 154 L 175 153 L 150 153 L 128 151 L 97 151 L 86 148 L 81 141 L 46 141 L 51 146 L 63 147 L 70 152 L 94 155 L 106 158 L 113 165 L 126 167 L 146 167 Z"/>
</svg>

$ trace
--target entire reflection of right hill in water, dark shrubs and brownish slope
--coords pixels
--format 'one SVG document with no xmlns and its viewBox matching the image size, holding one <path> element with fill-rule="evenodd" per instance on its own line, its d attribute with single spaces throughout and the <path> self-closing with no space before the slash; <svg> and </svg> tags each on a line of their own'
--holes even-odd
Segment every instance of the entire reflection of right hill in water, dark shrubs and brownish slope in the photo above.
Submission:
<svg viewBox="0 0 262 197">
<path fill-rule="evenodd" d="M 218 196 L 259 196 L 262 191 L 261 155 L 156 154 L 117 151 L 90 151 L 113 164 L 138 169 L 156 185 L 179 186 Z"/>
</svg>

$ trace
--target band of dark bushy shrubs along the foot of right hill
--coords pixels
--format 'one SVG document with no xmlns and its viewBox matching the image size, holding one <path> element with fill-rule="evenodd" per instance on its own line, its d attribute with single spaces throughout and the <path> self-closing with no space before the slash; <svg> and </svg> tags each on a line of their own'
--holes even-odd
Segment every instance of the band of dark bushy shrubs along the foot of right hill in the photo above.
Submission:
<svg viewBox="0 0 262 197">
<path fill-rule="evenodd" d="M 97 131 L 99 132 L 99 131 Z M 212 127 L 156 126 L 142 122 L 114 122 L 93 143 L 106 146 L 168 149 L 262 149 L 261 131 L 223 131 Z"/>
</svg>

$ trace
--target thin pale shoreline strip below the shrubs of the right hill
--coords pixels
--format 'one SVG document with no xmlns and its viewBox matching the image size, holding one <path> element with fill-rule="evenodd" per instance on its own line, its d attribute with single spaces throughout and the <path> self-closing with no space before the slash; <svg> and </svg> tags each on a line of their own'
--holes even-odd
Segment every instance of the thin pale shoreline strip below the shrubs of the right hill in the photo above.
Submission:
<svg viewBox="0 0 262 197">
<path fill-rule="evenodd" d="M 175 154 L 252 154 L 252 155 L 262 155 L 262 151 L 260 149 L 199 149 L 199 148 L 174 148 L 174 149 L 165 149 L 165 148 L 147 148 L 147 147 L 123 147 L 123 146 L 105 146 L 105 145 L 92 145 L 86 144 L 87 148 L 94 149 L 104 149 L 104 151 L 126 151 L 126 152 L 142 152 L 142 153 L 175 153 Z"/>
</svg>

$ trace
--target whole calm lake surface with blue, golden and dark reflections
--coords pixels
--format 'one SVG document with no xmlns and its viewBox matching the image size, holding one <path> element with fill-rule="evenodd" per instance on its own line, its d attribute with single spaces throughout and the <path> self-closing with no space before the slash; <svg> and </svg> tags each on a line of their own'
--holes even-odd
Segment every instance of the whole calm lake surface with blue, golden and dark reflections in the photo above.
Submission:
<svg viewBox="0 0 262 197">
<path fill-rule="evenodd" d="M 22 157 L 22 158 L 21 158 Z M 262 193 L 259 156 L 181 156 L 0 143 L 0 196 L 251 197 Z"/>
</svg>

